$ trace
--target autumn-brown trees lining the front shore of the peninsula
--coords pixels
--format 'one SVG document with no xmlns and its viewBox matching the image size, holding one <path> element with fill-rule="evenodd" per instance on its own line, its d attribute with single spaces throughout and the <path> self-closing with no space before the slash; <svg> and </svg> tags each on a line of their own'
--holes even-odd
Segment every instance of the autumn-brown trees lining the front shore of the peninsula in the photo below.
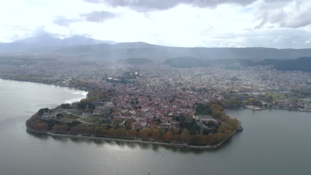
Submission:
<svg viewBox="0 0 311 175">
<path fill-rule="evenodd" d="M 66 123 L 57 123 L 49 129 L 47 122 L 42 122 L 36 117 L 32 117 L 27 121 L 27 126 L 38 131 L 49 131 L 58 134 L 70 134 L 70 135 L 87 135 L 97 137 L 108 138 L 120 138 L 120 139 L 135 139 L 140 138 L 145 141 L 158 141 L 166 143 L 187 143 L 190 145 L 213 145 L 217 144 L 224 139 L 228 138 L 232 132 L 226 130 L 224 127 L 219 127 L 218 132 L 208 135 L 195 134 L 192 135 L 187 128 L 181 130 L 181 128 L 175 127 L 172 129 L 157 129 L 157 128 L 144 128 L 140 130 L 126 129 L 126 128 L 107 128 L 99 125 L 71 125 Z"/>
</svg>

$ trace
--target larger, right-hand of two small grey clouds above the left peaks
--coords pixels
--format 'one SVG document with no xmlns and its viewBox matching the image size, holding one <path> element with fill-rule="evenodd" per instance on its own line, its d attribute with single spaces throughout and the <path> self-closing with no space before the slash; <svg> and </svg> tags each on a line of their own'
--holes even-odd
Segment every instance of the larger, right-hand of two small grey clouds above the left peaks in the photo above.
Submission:
<svg viewBox="0 0 311 175">
<path fill-rule="evenodd" d="M 116 15 L 108 11 L 93 11 L 91 13 L 81 14 L 80 16 L 84 17 L 86 21 L 102 23 L 105 20 L 114 18 Z"/>
</svg>

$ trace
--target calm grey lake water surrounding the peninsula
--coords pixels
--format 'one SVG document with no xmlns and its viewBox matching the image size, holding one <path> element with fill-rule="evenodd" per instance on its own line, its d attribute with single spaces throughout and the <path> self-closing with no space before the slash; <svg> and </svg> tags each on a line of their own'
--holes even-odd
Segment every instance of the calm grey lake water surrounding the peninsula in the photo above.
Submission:
<svg viewBox="0 0 311 175">
<path fill-rule="evenodd" d="M 53 138 L 27 132 L 39 108 L 85 97 L 54 85 L 0 80 L 0 174 L 308 174 L 311 113 L 227 110 L 245 129 L 224 146 L 193 150 Z"/>
</svg>

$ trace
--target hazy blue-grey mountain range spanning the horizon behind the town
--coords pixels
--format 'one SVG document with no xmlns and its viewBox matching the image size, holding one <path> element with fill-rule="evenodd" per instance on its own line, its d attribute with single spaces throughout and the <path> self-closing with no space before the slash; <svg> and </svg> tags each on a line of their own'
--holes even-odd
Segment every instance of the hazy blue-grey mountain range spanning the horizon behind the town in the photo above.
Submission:
<svg viewBox="0 0 311 175">
<path fill-rule="evenodd" d="M 193 57 L 208 59 L 294 59 L 310 57 L 311 49 L 274 48 L 204 48 L 167 47 L 145 42 L 103 41 L 84 36 L 59 39 L 51 36 L 30 37 L 10 43 L 0 43 L 0 54 L 50 54 L 65 58 L 117 61 L 127 58 L 148 58 L 165 61 L 168 58 Z"/>
</svg>

